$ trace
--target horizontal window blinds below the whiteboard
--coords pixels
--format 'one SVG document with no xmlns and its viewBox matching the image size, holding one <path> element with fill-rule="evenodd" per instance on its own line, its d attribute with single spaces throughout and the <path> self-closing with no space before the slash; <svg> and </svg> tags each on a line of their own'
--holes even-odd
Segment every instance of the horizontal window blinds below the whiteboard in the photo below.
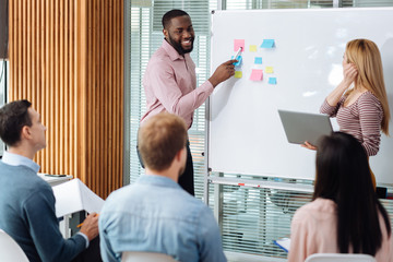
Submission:
<svg viewBox="0 0 393 262">
<path fill-rule="evenodd" d="M 216 175 L 216 174 L 214 174 Z M 312 184 L 310 180 L 283 180 L 246 175 L 225 174 L 224 178 L 245 181 L 288 182 Z M 251 184 L 251 182 L 250 182 Z M 290 236 L 291 218 L 300 206 L 309 203 L 312 193 L 273 188 L 243 187 L 210 183 L 210 206 L 218 209 L 223 247 L 228 253 L 243 253 L 263 261 L 286 261 L 287 253 L 274 245 L 274 240 Z M 217 198 L 219 191 L 219 198 Z M 389 187 L 388 192 L 393 192 Z M 393 200 L 381 200 L 393 225 Z M 269 260 L 271 258 L 272 260 Z M 228 257 L 230 261 L 230 255 Z M 251 260 L 254 261 L 254 260 Z"/>
</svg>

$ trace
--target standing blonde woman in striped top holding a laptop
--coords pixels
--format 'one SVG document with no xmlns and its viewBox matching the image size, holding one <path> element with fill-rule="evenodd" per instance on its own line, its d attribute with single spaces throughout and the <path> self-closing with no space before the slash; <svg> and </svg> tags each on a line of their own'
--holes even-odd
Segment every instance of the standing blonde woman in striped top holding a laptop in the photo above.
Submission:
<svg viewBox="0 0 393 262">
<path fill-rule="evenodd" d="M 355 136 L 373 156 L 381 131 L 389 135 L 390 110 L 383 80 L 381 53 L 368 39 L 348 41 L 343 59 L 344 80 L 326 97 L 320 111 L 336 117 L 340 131 Z M 315 150 L 306 142 L 305 147 Z M 376 187 L 373 174 L 372 183 Z"/>
</svg>

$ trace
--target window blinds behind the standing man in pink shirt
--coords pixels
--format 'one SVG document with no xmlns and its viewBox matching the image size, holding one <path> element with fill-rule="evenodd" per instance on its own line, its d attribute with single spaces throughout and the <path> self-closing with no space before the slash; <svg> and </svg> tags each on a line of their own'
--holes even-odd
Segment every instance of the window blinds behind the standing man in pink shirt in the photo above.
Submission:
<svg viewBox="0 0 393 262">
<path fill-rule="evenodd" d="M 191 16 L 195 31 L 194 49 L 191 58 L 196 66 L 196 86 L 200 86 L 210 78 L 210 10 L 217 8 L 216 1 L 154 1 L 151 5 L 141 4 L 136 1 L 131 4 L 130 35 L 131 56 L 130 68 L 130 182 L 143 174 L 136 155 L 136 132 L 139 122 L 145 112 L 145 95 L 142 79 L 150 57 L 163 43 L 162 16 L 171 9 L 182 9 Z M 190 145 L 194 162 L 194 186 L 196 198 L 203 195 L 203 179 L 205 174 L 204 158 L 204 132 L 205 132 L 205 106 L 201 106 L 194 112 L 192 128 L 189 130 Z"/>
</svg>

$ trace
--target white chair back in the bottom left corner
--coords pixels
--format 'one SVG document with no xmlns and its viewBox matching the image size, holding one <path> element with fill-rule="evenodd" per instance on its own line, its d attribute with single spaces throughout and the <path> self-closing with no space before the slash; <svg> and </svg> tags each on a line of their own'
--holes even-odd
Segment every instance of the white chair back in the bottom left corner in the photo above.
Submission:
<svg viewBox="0 0 393 262">
<path fill-rule="evenodd" d="M 0 261 L 1 262 L 28 262 L 26 254 L 12 237 L 0 229 Z"/>
</svg>

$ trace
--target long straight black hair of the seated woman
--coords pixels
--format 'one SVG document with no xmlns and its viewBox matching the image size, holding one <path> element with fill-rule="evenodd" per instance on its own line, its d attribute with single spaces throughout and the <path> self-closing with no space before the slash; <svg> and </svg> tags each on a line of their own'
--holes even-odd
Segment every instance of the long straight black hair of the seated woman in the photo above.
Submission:
<svg viewBox="0 0 393 262">
<path fill-rule="evenodd" d="M 350 134 L 334 132 L 321 140 L 313 194 L 317 198 L 331 199 L 337 204 L 341 253 L 347 253 L 352 247 L 354 253 L 376 255 L 382 246 L 379 212 L 389 236 L 391 226 L 374 192 L 366 152 Z"/>
</svg>

